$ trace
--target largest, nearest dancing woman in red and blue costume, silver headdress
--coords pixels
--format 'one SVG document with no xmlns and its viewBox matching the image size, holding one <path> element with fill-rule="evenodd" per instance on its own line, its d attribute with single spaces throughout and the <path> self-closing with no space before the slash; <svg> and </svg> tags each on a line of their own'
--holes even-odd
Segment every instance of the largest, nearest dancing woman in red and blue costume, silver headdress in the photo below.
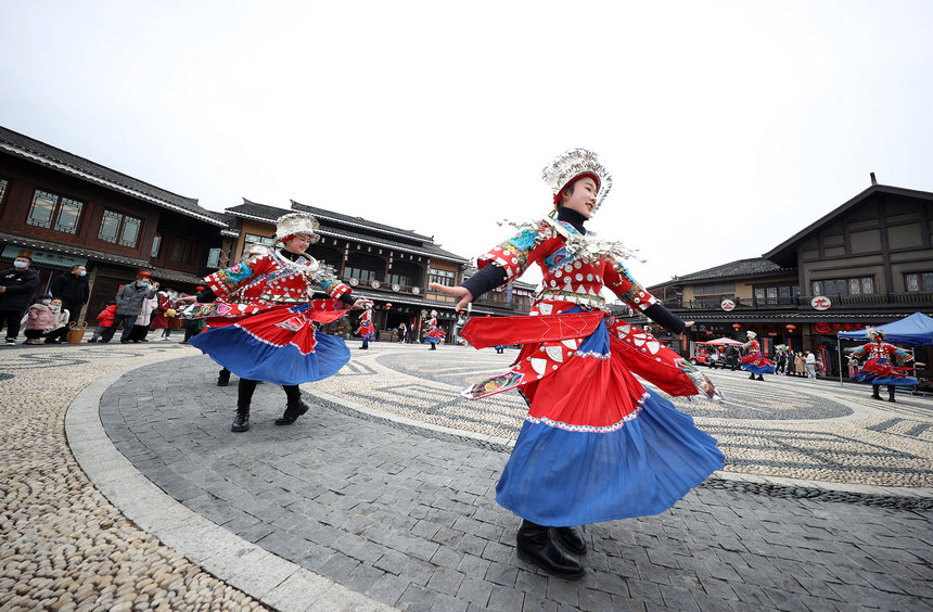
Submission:
<svg viewBox="0 0 933 612">
<path fill-rule="evenodd" d="M 713 398 L 708 379 L 651 334 L 615 319 L 600 295 L 609 288 L 675 333 L 689 324 L 629 276 L 619 258 L 630 254 L 621 244 L 584 227 L 611 187 L 609 173 L 595 153 L 576 149 L 546 167 L 544 178 L 557 218 L 516 226 L 519 234 L 481 256 L 480 271 L 462 285 L 431 286 L 459 297 L 459 310 L 540 266 L 544 288 L 532 316 L 474 318 L 463 329 L 476 348 L 522 345 L 510 370 L 464 394 L 478 399 L 515 388 L 527 401 L 496 500 L 524 519 L 521 559 L 577 579 L 583 565 L 561 549 L 586 552 L 575 525 L 663 512 L 721 468 L 724 456 L 636 374 L 670 395 Z"/>
</svg>

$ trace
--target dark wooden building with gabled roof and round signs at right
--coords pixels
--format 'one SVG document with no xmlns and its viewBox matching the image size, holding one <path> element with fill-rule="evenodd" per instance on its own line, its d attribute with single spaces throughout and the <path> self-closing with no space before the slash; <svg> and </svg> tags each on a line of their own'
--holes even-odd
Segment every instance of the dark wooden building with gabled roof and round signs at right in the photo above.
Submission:
<svg viewBox="0 0 933 612">
<path fill-rule="evenodd" d="M 933 193 L 872 184 L 762 257 L 648 289 L 696 321 L 690 341 L 752 330 L 838 372 L 838 332 L 933 315 Z"/>
</svg>

